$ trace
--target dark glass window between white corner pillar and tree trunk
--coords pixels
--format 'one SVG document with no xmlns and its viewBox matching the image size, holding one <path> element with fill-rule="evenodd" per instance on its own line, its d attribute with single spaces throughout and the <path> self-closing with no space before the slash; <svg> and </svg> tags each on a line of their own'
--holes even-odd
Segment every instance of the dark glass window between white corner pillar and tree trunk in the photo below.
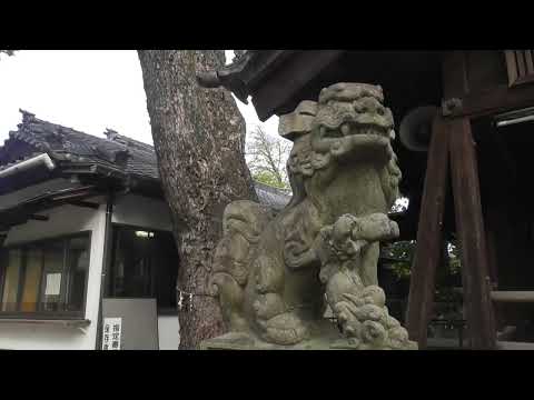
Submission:
<svg viewBox="0 0 534 400">
<path fill-rule="evenodd" d="M 172 233 L 113 229 L 110 296 L 156 298 L 158 310 L 176 310 L 178 251 Z"/>
</svg>

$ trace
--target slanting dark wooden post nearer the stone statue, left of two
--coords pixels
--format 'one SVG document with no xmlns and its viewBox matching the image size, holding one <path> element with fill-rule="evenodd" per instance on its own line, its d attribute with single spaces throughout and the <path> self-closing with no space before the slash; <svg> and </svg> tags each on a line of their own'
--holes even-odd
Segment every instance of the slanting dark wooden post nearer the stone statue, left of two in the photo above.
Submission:
<svg viewBox="0 0 534 400">
<path fill-rule="evenodd" d="M 434 119 L 421 202 L 417 246 L 412 266 L 406 328 L 409 339 L 426 348 L 436 268 L 442 253 L 442 226 L 448 171 L 448 121 Z"/>
</svg>

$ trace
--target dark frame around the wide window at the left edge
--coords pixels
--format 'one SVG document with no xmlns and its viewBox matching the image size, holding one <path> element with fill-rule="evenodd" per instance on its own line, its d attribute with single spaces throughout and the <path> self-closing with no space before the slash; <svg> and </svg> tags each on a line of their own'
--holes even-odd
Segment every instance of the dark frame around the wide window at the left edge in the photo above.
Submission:
<svg viewBox="0 0 534 400">
<path fill-rule="evenodd" d="M 61 288 L 66 288 L 67 282 L 67 276 L 70 273 L 70 271 L 66 271 L 65 268 L 68 266 L 69 257 L 68 257 L 68 251 L 67 251 L 67 246 L 65 242 L 70 239 L 77 239 L 77 238 L 85 238 L 88 240 L 88 257 L 89 257 L 89 268 L 87 269 L 86 273 L 86 279 L 83 283 L 83 302 L 80 311 L 43 311 L 40 309 L 40 306 L 38 306 L 37 311 L 1 311 L 0 310 L 0 319 L 26 319 L 26 320 L 80 320 L 83 319 L 86 316 L 87 311 L 87 292 L 88 292 L 88 283 L 89 283 L 89 271 L 91 268 L 90 264 L 90 259 L 91 259 L 91 243 L 92 243 L 92 231 L 91 230 L 85 230 L 85 231 L 79 231 L 76 233 L 62 233 L 44 239 L 37 239 L 37 240 L 26 240 L 26 241 L 20 241 L 17 243 L 12 243 L 9 246 L 2 246 L 0 247 L 0 252 L 6 253 L 9 250 L 12 249 L 23 249 L 22 251 L 22 259 L 21 259 L 21 268 L 20 268 L 20 276 L 19 276 L 19 282 L 18 282 L 18 291 L 17 291 L 17 307 L 20 307 L 21 304 L 21 299 L 22 299 L 22 292 L 23 292 L 23 286 L 24 286 L 24 278 L 26 278 L 26 270 L 27 270 L 27 258 L 28 258 L 28 248 L 32 246 L 39 246 L 39 244 L 44 244 L 47 242 L 56 242 L 56 241 L 63 241 L 63 270 L 62 270 L 62 277 L 61 277 Z M 44 276 L 44 268 L 43 266 L 41 267 L 41 273 L 40 273 L 40 280 L 39 280 L 39 291 L 38 291 L 38 299 L 40 304 L 40 299 L 42 294 L 42 289 L 43 289 L 43 276 Z M 6 284 L 6 268 L 0 267 L 0 296 L 3 294 L 3 287 Z M 67 291 L 65 289 L 61 289 L 60 291 L 60 298 L 61 301 L 66 299 Z M 65 302 L 65 301 L 63 301 Z M 0 299 L 1 303 L 1 299 Z"/>
</svg>

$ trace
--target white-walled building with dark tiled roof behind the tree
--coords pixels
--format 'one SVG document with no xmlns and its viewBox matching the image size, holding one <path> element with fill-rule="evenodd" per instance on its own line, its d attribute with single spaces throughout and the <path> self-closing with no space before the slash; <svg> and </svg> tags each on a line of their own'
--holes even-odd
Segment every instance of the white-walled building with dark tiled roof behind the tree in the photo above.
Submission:
<svg viewBox="0 0 534 400">
<path fill-rule="evenodd" d="M 21 112 L 0 147 L 0 349 L 177 349 L 179 258 L 154 148 Z M 274 209 L 290 199 L 255 188 Z"/>
</svg>

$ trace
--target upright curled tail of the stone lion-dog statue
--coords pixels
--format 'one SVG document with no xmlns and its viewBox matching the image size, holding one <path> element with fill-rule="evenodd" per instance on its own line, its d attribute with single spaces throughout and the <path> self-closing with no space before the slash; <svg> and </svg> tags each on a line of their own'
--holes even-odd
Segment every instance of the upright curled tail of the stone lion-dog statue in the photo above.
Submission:
<svg viewBox="0 0 534 400">
<path fill-rule="evenodd" d="M 215 250 L 209 292 L 219 299 L 230 331 L 248 330 L 243 302 L 250 258 L 273 217 L 270 208 L 249 200 L 234 201 L 225 209 L 222 239 Z"/>
</svg>

